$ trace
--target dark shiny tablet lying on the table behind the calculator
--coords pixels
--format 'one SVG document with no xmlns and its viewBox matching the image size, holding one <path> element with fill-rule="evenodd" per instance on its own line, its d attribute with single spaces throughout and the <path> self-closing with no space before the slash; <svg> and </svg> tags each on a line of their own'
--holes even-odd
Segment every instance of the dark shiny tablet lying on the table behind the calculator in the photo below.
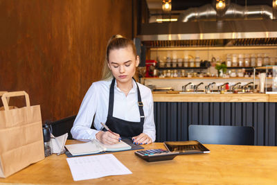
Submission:
<svg viewBox="0 0 277 185">
<path fill-rule="evenodd" d="M 210 150 L 199 141 L 164 141 L 163 144 L 170 152 L 179 152 L 180 155 L 209 153 Z"/>
</svg>

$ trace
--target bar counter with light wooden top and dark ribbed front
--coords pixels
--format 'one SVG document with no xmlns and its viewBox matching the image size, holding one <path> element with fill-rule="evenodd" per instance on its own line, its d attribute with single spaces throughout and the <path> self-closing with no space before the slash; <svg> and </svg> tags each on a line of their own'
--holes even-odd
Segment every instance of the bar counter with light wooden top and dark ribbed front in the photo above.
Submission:
<svg viewBox="0 0 277 185">
<path fill-rule="evenodd" d="M 174 94 L 175 93 L 175 94 Z M 153 92 L 157 141 L 187 141 L 188 126 L 252 126 L 255 145 L 277 146 L 276 94 Z"/>
</svg>

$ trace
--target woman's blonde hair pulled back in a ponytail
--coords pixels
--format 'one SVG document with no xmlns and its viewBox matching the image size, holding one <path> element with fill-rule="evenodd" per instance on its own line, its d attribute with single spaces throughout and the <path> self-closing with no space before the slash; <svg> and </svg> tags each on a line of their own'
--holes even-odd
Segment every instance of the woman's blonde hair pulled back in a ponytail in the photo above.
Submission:
<svg viewBox="0 0 277 185">
<path fill-rule="evenodd" d="M 114 49 L 123 49 L 127 46 L 132 47 L 134 56 L 136 56 L 136 46 L 134 46 L 134 42 L 131 39 L 127 39 L 122 35 L 114 35 L 109 39 L 109 42 L 107 43 L 104 67 L 102 68 L 102 80 L 110 80 L 111 78 L 114 78 L 108 67 L 110 51 Z"/>
</svg>

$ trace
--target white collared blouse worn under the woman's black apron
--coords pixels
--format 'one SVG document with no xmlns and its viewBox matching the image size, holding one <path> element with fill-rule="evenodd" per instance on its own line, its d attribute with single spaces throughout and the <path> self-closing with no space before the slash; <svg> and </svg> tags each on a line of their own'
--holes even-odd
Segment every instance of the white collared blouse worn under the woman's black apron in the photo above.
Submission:
<svg viewBox="0 0 277 185">
<path fill-rule="evenodd" d="M 152 141 L 156 139 L 156 129 L 154 124 L 153 98 L 152 92 L 148 87 L 139 85 L 141 91 L 141 100 L 143 102 L 143 112 L 145 116 L 143 124 L 143 133 L 148 134 Z M 74 139 L 87 140 L 95 139 L 99 130 L 102 130 L 102 123 L 106 123 L 109 108 L 109 87 L 111 80 L 93 82 L 87 94 L 82 100 L 78 115 L 75 118 L 71 134 Z M 114 112 L 113 116 L 125 121 L 140 122 L 141 115 L 139 114 L 138 95 L 136 82 L 132 80 L 132 89 L 125 96 L 124 92 L 114 86 Z M 91 129 L 91 123 L 94 118 L 94 127 Z"/>
</svg>

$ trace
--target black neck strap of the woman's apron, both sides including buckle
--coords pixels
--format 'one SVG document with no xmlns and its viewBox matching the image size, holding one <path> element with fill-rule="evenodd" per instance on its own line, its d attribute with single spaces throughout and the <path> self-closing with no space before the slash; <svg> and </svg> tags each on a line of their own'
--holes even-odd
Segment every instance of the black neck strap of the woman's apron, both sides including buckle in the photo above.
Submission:
<svg viewBox="0 0 277 185">
<path fill-rule="evenodd" d="M 133 78 L 134 79 L 134 78 Z M 116 78 L 111 81 L 111 87 L 109 87 L 109 109 L 108 115 L 112 117 L 114 113 L 114 85 L 116 82 Z M 136 80 L 134 80 L 136 82 Z M 141 115 L 141 123 L 144 123 L 144 112 L 143 112 L 143 102 L 141 101 L 141 91 L 139 91 L 139 85 L 136 83 L 137 91 L 138 91 L 138 105 L 139 105 L 139 114 Z"/>
</svg>

